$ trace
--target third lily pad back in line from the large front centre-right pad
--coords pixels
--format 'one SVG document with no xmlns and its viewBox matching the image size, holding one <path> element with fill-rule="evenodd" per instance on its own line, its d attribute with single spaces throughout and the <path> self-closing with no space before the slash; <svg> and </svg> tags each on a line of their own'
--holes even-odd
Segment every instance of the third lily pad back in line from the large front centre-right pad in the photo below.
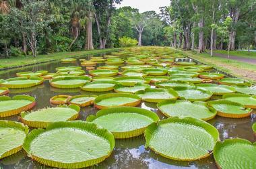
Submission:
<svg viewBox="0 0 256 169">
<path fill-rule="evenodd" d="M 174 87 L 181 99 L 189 101 L 206 101 L 212 97 L 212 92 L 199 87 Z"/>
</svg>

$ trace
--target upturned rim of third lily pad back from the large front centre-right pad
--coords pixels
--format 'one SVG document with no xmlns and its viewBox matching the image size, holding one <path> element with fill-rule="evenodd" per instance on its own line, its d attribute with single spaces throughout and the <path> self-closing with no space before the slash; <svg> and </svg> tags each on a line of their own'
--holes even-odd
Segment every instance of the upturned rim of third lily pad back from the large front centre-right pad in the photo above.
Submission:
<svg viewBox="0 0 256 169">
<path fill-rule="evenodd" d="M 191 86 L 191 87 L 173 87 L 172 89 L 174 89 L 174 91 L 185 91 L 185 90 L 198 90 L 201 91 L 203 93 L 206 93 L 207 95 L 209 95 L 208 97 L 204 97 L 204 98 L 199 98 L 199 99 L 186 99 L 185 97 L 182 97 L 179 95 L 180 99 L 184 99 L 184 100 L 189 100 L 189 101 L 206 101 L 207 99 L 210 99 L 213 95 L 213 93 L 211 91 L 199 88 L 199 87 L 195 87 L 195 86 Z M 179 92 L 177 92 L 179 94 Z"/>
</svg>

